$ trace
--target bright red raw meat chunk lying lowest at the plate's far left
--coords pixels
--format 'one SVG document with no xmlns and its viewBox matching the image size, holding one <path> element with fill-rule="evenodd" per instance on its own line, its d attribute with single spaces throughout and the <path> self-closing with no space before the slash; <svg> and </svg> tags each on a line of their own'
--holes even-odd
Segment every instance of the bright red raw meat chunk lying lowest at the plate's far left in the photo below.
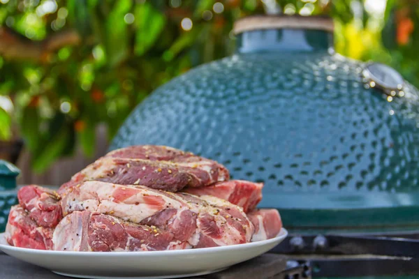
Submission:
<svg viewBox="0 0 419 279">
<path fill-rule="evenodd" d="M 40 227 L 29 217 L 22 206 L 15 205 L 10 209 L 6 225 L 6 240 L 10 245 L 40 250 L 52 249 L 52 233 L 50 227 Z"/>
</svg>

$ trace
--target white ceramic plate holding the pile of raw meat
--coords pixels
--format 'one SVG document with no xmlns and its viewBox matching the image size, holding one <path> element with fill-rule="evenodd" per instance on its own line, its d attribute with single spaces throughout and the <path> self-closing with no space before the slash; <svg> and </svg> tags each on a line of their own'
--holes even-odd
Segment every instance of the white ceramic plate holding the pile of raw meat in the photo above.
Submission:
<svg viewBox="0 0 419 279">
<path fill-rule="evenodd" d="M 54 273 L 77 278 L 180 278 L 214 273 L 262 255 L 283 241 L 281 229 L 274 239 L 190 250 L 147 252 L 65 252 L 10 246 L 0 234 L 0 250 Z"/>
</svg>

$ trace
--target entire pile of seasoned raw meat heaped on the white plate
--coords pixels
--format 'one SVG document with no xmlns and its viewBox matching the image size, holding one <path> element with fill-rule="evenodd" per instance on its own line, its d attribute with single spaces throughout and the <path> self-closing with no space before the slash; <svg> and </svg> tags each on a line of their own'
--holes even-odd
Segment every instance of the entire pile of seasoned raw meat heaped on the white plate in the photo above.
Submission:
<svg viewBox="0 0 419 279">
<path fill-rule="evenodd" d="M 228 179 L 223 165 L 193 153 L 166 146 L 118 149 L 75 174 L 59 194 L 21 188 L 6 239 L 34 249 L 149 251 L 276 236 L 279 213 L 254 210 L 263 184 Z"/>
</svg>

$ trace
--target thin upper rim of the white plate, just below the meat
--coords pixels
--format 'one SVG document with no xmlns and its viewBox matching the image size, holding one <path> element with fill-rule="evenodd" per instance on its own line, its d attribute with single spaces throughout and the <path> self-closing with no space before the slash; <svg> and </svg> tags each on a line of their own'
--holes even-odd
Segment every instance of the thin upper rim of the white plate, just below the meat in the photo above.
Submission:
<svg viewBox="0 0 419 279">
<path fill-rule="evenodd" d="M 252 248 L 258 246 L 265 246 L 270 245 L 275 242 L 281 243 L 286 239 L 288 236 L 288 230 L 284 227 L 281 228 L 279 234 L 272 239 L 266 239 L 263 241 L 255 241 L 249 243 L 241 243 L 241 244 L 233 244 L 228 246 L 216 246 L 210 248 L 193 248 L 193 249 L 182 249 L 182 250 L 162 250 L 162 251 L 114 251 L 114 252 L 80 252 L 80 251 L 56 251 L 56 250 L 38 250 L 38 249 L 31 249 L 31 248 L 21 248 L 11 246 L 6 241 L 6 232 L 0 233 L 0 250 L 8 254 L 5 250 L 14 251 L 14 252 L 29 252 L 29 253 L 37 253 L 38 255 L 77 255 L 77 256 L 91 256 L 96 255 L 98 257 L 108 257 L 110 255 L 118 255 L 121 256 L 135 256 L 135 255 L 148 255 L 148 256 L 170 256 L 170 255 L 188 255 L 190 253 L 200 253 L 200 252 L 223 252 L 225 250 L 240 250 L 245 248 Z M 2 242 L 6 242 L 3 244 Z M 4 250 L 3 250 L 4 249 Z"/>
</svg>

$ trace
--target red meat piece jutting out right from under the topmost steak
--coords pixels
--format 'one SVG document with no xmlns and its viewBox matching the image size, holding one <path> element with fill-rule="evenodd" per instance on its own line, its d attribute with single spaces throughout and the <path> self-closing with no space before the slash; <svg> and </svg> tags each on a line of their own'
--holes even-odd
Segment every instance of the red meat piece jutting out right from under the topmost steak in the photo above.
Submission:
<svg viewBox="0 0 419 279">
<path fill-rule="evenodd" d="M 230 180 L 216 183 L 212 186 L 200 188 L 184 188 L 183 192 L 192 195 L 210 195 L 226 199 L 226 201 L 242 206 L 244 212 L 256 208 L 262 199 L 263 183 L 254 183 L 244 180 Z"/>
</svg>

